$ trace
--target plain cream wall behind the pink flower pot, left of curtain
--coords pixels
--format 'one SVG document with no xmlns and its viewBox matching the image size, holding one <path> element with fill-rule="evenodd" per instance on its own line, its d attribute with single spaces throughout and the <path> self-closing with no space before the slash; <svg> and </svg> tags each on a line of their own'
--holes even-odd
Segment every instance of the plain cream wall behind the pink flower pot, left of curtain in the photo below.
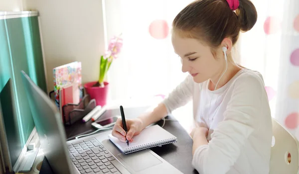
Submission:
<svg viewBox="0 0 299 174">
<path fill-rule="evenodd" d="M 97 81 L 105 52 L 102 0 L 25 0 L 24 10 L 39 11 L 47 87 L 53 68 L 82 62 L 82 82 Z"/>
</svg>

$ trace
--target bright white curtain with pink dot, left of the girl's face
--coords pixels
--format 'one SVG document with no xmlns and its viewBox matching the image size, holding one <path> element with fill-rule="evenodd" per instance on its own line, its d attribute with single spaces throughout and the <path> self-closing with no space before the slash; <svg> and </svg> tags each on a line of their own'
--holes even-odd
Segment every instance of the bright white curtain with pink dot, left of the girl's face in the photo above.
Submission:
<svg viewBox="0 0 299 174">
<path fill-rule="evenodd" d="M 167 95 L 185 78 L 171 44 L 171 23 L 192 0 L 122 0 L 126 93 L 130 98 Z M 171 4 L 171 5 L 170 5 Z M 115 62 L 116 64 L 117 62 Z"/>
</svg>

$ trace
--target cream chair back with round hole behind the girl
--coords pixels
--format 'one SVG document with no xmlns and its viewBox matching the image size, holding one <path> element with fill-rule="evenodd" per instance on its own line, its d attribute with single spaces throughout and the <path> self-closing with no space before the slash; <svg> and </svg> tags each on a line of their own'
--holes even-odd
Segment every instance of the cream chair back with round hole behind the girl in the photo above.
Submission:
<svg viewBox="0 0 299 174">
<path fill-rule="evenodd" d="M 270 174 L 299 174 L 299 141 L 274 118 L 272 127 Z"/>
</svg>

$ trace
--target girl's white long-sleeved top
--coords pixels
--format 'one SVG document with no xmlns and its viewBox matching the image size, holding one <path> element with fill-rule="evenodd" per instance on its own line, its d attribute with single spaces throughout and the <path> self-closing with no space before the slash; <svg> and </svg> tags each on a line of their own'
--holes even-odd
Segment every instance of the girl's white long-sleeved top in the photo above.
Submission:
<svg viewBox="0 0 299 174">
<path fill-rule="evenodd" d="M 209 82 L 188 75 L 163 101 L 171 113 L 193 99 L 195 125 L 209 128 L 192 166 L 199 174 L 269 174 L 272 121 L 262 75 L 242 69 L 215 91 Z"/>
</svg>

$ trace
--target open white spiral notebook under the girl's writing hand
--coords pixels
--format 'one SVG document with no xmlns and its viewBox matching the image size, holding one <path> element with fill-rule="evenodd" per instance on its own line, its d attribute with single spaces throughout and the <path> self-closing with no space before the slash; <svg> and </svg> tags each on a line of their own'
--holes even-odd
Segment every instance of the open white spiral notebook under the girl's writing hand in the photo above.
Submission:
<svg viewBox="0 0 299 174">
<path fill-rule="evenodd" d="M 145 128 L 139 135 L 133 137 L 133 142 L 121 142 L 111 134 L 108 135 L 109 139 L 125 154 L 141 151 L 155 146 L 162 146 L 165 144 L 175 143 L 177 138 L 161 128 L 159 125 L 153 125 Z"/>
</svg>

